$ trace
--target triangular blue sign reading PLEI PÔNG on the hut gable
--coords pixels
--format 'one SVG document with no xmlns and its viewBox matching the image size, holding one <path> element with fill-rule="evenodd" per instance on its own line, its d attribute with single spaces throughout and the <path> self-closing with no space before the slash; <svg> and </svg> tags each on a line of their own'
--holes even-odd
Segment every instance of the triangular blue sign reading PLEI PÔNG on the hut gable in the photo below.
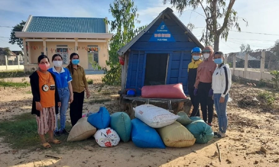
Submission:
<svg viewBox="0 0 279 167">
<path fill-rule="evenodd" d="M 153 33 L 149 42 L 176 42 L 166 24 L 162 21 L 156 31 Z"/>
</svg>

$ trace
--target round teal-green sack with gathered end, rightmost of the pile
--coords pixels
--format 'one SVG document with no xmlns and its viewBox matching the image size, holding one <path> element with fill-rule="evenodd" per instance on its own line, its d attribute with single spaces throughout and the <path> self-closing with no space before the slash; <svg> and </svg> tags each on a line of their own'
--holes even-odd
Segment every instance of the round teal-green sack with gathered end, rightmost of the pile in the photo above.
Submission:
<svg viewBox="0 0 279 167">
<path fill-rule="evenodd" d="M 195 143 L 205 144 L 212 140 L 212 138 L 214 137 L 214 133 L 211 126 L 207 125 L 203 120 L 194 121 L 185 127 L 196 138 Z"/>
</svg>

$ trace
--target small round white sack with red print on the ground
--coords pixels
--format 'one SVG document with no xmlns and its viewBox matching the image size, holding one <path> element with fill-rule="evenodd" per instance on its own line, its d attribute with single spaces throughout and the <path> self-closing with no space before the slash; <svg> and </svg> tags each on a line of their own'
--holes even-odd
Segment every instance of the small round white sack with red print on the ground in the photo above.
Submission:
<svg viewBox="0 0 279 167">
<path fill-rule="evenodd" d="M 120 141 L 120 137 L 116 131 L 111 128 L 97 130 L 94 134 L 94 138 L 101 147 L 113 147 Z"/>
</svg>

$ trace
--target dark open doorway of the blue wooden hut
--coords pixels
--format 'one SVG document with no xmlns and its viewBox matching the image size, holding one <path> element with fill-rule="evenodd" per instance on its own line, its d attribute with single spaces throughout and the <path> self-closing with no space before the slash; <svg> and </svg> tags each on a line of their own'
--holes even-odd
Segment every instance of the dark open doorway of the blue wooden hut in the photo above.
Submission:
<svg viewBox="0 0 279 167">
<path fill-rule="evenodd" d="M 168 55 L 166 53 L 148 53 L 146 55 L 144 86 L 166 84 Z"/>
</svg>

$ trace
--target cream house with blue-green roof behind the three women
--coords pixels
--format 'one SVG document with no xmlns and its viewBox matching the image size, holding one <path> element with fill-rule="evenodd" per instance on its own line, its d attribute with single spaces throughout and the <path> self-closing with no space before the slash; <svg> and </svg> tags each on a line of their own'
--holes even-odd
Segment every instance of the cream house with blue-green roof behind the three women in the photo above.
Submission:
<svg viewBox="0 0 279 167">
<path fill-rule="evenodd" d="M 106 67 L 108 41 L 107 18 L 41 17 L 29 15 L 21 32 L 15 36 L 23 39 L 24 68 L 35 70 L 39 55 L 63 56 L 63 67 L 69 64 L 70 54 L 80 56 L 80 65 L 88 71 L 95 70 L 92 63 Z M 52 66 L 53 64 L 51 64 Z"/>
</svg>

